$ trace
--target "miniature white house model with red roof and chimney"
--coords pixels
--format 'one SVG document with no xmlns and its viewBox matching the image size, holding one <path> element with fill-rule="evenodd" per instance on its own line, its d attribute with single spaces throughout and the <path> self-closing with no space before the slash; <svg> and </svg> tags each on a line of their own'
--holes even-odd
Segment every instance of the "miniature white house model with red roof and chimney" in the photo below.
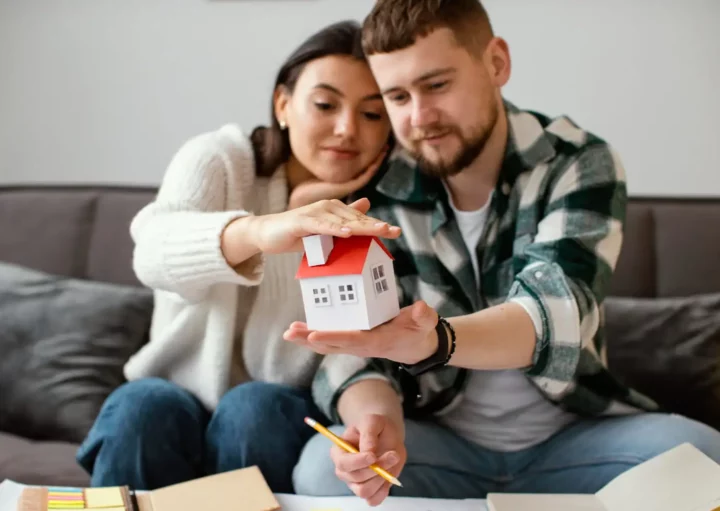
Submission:
<svg viewBox="0 0 720 511">
<path fill-rule="evenodd" d="M 374 236 L 303 238 L 300 281 L 310 330 L 369 330 L 400 311 L 393 257 Z"/>
</svg>

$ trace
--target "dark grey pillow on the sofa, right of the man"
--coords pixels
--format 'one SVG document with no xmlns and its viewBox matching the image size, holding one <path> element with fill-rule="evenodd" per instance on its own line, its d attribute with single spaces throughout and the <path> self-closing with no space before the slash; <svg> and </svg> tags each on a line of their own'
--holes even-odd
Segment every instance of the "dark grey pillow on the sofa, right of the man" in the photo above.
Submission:
<svg viewBox="0 0 720 511">
<path fill-rule="evenodd" d="M 720 294 L 608 298 L 608 365 L 669 412 L 720 430 Z"/>
</svg>

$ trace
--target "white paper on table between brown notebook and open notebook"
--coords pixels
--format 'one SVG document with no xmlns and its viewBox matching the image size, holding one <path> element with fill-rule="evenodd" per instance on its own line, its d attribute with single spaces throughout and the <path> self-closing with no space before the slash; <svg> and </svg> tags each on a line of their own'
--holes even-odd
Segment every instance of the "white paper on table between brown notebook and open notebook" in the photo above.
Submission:
<svg viewBox="0 0 720 511">
<path fill-rule="evenodd" d="M 388 497 L 376 507 L 358 497 L 305 497 L 275 494 L 283 511 L 487 511 L 484 500 Z"/>
</svg>

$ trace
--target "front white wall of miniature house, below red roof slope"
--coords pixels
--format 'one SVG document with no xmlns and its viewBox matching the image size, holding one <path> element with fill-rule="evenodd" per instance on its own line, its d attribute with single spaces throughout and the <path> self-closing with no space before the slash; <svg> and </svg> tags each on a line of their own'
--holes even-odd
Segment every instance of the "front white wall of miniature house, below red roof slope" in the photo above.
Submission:
<svg viewBox="0 0 720 511">
<path fill-rule="evenodd" d="M 341 303 L 338 286 L 351 284 L 357 293 L 355 303 Z M 330 305 L 317 307 L 313 289 L 325 287 Z M 305 318 L 310 330 L 367 330 L 368 313 L 365 306 L 365 289 L 362 275 L 339 275 L 302 279 L 300 287 L 305 304 Z"/>
</svg>

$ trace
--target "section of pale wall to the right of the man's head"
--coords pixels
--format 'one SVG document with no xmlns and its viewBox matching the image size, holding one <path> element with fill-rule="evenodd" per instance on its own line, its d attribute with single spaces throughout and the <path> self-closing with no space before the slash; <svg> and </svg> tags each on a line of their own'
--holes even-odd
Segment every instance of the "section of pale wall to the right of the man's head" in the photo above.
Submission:
<svg viewBox="0 0 720 511">
<path fill-rule="evenodd" d="M 720 1 L 487 5 L 514 55 L 509 99 L 615 145 L 633 195 L 720 197 Z"/>
</svg>

